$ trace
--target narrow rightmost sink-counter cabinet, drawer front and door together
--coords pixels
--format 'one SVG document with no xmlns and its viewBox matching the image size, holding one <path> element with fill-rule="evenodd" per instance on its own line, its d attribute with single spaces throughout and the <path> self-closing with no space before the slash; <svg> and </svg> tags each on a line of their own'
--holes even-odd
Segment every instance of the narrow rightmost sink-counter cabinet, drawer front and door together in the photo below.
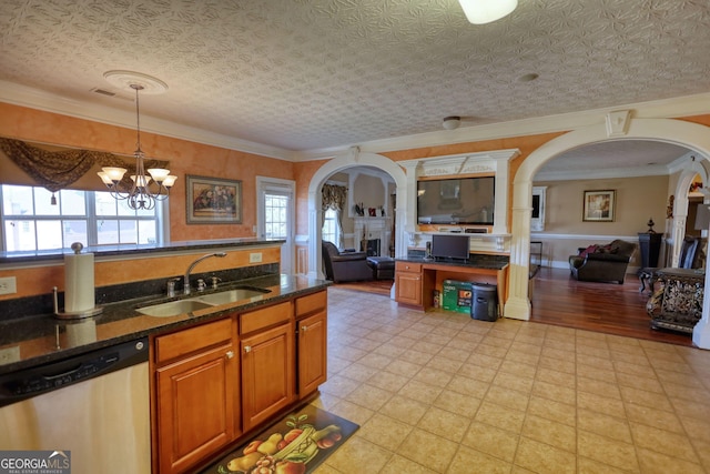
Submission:
<svg viewBox="0 0 710 474">
<path fill-rule="evenodd" d="M 327 379 L 327 292 L 296 299 L 297 391 L 312 394 Z"/>
</svg>

